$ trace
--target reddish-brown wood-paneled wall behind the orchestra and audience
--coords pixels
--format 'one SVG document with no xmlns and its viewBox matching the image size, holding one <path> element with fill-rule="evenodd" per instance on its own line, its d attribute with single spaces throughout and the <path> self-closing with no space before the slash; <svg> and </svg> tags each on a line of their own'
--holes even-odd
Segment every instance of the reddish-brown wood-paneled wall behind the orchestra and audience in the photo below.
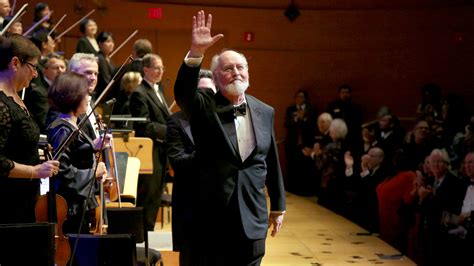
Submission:
<svg viewBox="0 0 474 266">
<path fill-rule="evenodd" d="M 20 6 L 22 1 L 18 1 Z M 60 29 L 71 25 L 97 3 L 105 5 L 92 17 L 99 31 L 114 33 L 116 45 L 135 29 L 137 38 L 148 38 L 166 66 L 166 93 L 171 102 L 172 87 L 182 58 L 189 48 L 191 17 L 200 9 L 189 5 L 162 5 L 120 0 L 52 1 L 56 21 L 67 13 Z M 77 4 L 83 13 L 75 13 Z M 32 10 L 34 2 L 30 2 Z M 160 20 L 148 18 L 148 8 L 161 7 Z M 225 47 L 242 51 L 250 65 L 249 93 L 276 109 L 276 134 L 284 139 L 284 112 L 297 89 L 310 93 L 319 111 L 337 97 L 337 86 L 353 86 L 354 101 L 365 120 L 388 105 L 399 116 L 412 116 L 420 101 L 420 87 L 435 82 L 443 94 L 474 99 L 474 7 L 428 9 L 300 10 L 290 22 L 284 10 L 206 8 L 214 16 L 213 32 L 225 38 L 208 53 Z M 31 12 L 25 16 L 29 25 Z M 253 32 L 247 43 L 244 32 Z M 63 38 L 59 49 L 72 55 L 80 37 L 78 28 Z M 459 37 L 462 40 L 459 40 Z M 113 58 L 120 64 L 131 51 L 132 40 Z M 471 110 L 473 108 L 471 107 Z"/>
</svg>

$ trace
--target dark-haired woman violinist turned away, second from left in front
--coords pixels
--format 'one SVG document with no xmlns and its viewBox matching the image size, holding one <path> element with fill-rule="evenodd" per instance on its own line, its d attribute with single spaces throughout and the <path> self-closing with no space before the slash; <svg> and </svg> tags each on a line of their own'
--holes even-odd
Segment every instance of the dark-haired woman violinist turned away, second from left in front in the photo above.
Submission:
<svg viewBox="0 0 474 266">
<path fill-rule="evenodd" d="M 87 79 L 74 72 L 61 74 L 49 89 L 48 98 L 60 112 L 48 131 L 48 142 L 56 151 L 69 135 L 77 130 L 78 117 L 87 111 L 89 98 Z M 68 215 L 63 226 L 65 233 L 77 233 L 83 211 L 86 211 L 85 221 L 89 221 L 89 210 L 98 206 L 94 194 L 97 182 L 107 174 L 107 170 L 103 162 L 96 161 L 95 154 L 101 147 L 108 145 L 108 137 L 106 143 L 102 145 L 101 137 L 93 140 L 80 130 L 59 157 L 56 189 L 57 193 L 66 199 L 68 205 Z M 81 233 L 89 231 L 87 226 L 81 228 Z"/>
</svg>

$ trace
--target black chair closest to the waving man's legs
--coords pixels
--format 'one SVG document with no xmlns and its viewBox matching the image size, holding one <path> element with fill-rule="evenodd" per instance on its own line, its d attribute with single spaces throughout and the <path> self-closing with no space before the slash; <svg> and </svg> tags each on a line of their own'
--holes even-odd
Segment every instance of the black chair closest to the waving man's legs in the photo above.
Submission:
<svg viewBox="0 0 474 266">
<path fill-rule="evenodd" d="M 136 243 L 145 242 L 145 247 L 137 247 L 137 265 L 154 266 L 163 259 L 158 250 L 148 247 L 148 232 L 144 226 L 142 207 L 109 208 L 107 209 L 108 228 L 110 234 L 132 234 Z"/>
</svg>

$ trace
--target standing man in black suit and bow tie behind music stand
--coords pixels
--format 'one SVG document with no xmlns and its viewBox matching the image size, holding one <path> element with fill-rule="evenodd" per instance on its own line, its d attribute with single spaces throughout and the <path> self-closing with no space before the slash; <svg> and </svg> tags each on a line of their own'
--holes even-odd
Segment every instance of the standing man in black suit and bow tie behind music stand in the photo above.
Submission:
<svg viewBox="0 0 474 266">
<path fill-rule="evenodd" d="M 163 60 L 157 54 L 143 57 L 144 78 L 130 95 L 130 113 L 133 117 L 146 117 L 147 122 L 135 122 L 133 129 L 137 137 L 153 140 L 153 173 L 141 174 L 138 178 L 137 205 L 145 211 L 145 225 L 148 231 L 155 227 L 156 215 L 160 208 L 163 177 L 166 168 L 166 119 L 168 106 L 160 88 L 163 77 Z"/>
</svg>

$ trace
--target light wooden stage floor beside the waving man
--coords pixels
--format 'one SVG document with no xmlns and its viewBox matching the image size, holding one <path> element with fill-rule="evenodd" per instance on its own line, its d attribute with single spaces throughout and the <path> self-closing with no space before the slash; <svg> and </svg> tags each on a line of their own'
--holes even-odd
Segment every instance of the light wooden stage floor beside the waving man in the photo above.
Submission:
<svg viewBox="0 0 474 266">
<path fill-rule="evenodd" d="M 156 231 L 169 231 L 157 224 Z M 315 198 L 287 193 L 282 231 L 267 239 L 262 266 L 415 265 L 376 236 L 316 204 Z M 164 251 L 166 266 L 177 266 L 177 253 Z M 383 254 L 385 256 L 379 256 Z"/>
</svg>

